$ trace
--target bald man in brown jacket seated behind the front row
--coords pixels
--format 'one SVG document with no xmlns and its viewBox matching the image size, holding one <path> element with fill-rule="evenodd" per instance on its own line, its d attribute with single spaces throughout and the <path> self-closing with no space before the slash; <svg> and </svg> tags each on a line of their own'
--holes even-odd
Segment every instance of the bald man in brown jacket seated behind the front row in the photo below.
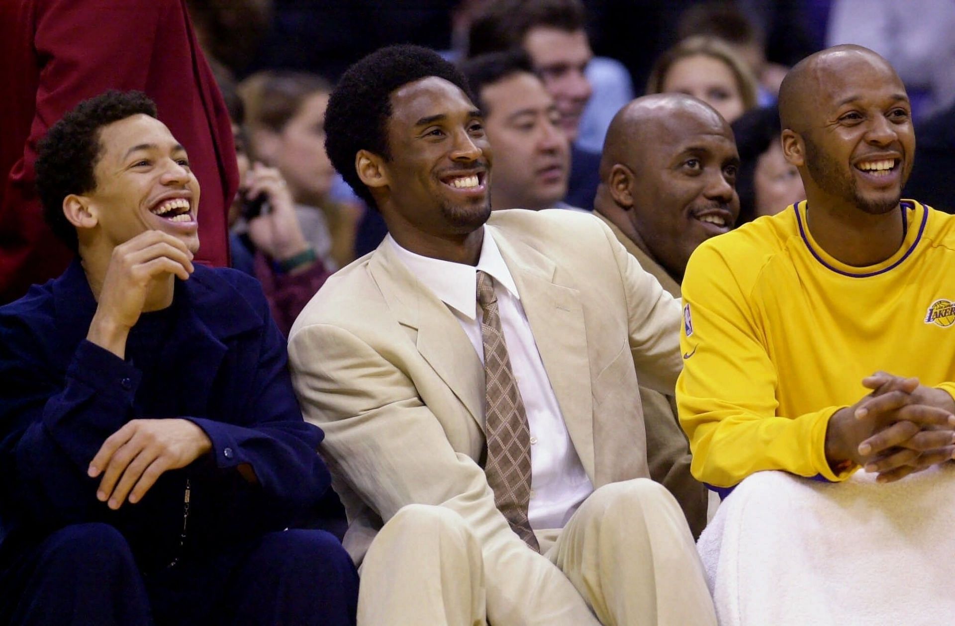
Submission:
<svg viewBox="0 0 955 626">
<path fill-rule="evenodd" d="M 594 211 L 674 298 L 690 254 L 739 215 L 739 156 L 730 125 L 686 94 L 639 97 L 614 116 Z M 707 524 L 706 488 L 690 475 L 690 446 L 672 389 L 640 387 L 650 477 L 683 507 L 693 536 Z M 715 496 L 713 496 L 715 499 Z"/>
</svg>

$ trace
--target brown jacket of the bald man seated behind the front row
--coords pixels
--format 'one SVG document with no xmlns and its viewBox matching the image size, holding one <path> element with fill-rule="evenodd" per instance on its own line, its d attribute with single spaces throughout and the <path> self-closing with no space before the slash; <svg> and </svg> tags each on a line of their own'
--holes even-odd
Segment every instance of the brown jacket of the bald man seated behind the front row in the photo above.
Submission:
<svg viewBox="0 0 955 626">
<path fill-rule="evenodd" d="M 640 262 L 648 273 L 673 296 L 680 298 L 680 284 L 674 281 L 667 270 L 650 259 L 624 231 L 605 216 L 596 214 L 621 242 L 626 251 Z M 673 389 L 660 393 L 640 387 L 640 400 L 644 408 L 644 423 L 647 426 L 647 464 L 650 478 L 666 487 L 680 503 L 683 514 L 690 523 L 693 537 L 699 537 L 707 526 L 707 508 L 710 495 L 703 483 L 690 474 L 690 442 L 680 428 L 676 413 L 676 396 Z"/>
</svg>

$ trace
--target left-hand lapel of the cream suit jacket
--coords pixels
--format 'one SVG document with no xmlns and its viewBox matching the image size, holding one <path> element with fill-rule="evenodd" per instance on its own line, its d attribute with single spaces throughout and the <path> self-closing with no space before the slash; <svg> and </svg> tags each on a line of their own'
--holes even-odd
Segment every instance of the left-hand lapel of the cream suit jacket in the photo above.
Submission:
<svg viewBox="0 0 955 626">
<path fill-rule="evenodd" d="M 382 242 L 369 264 L 398 323 L 412 329 L 421 357 L 484 430 L 484 367 L 455 315 Z"/>
</svg>

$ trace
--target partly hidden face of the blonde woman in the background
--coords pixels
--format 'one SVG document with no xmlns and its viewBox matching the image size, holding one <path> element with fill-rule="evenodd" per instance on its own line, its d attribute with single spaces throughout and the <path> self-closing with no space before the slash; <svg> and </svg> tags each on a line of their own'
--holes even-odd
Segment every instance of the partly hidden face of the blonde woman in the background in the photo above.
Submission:
<svg viewBox="0 0 955 626">
<path fill-rule="evenodd" d="M 730 123 L 746 111 L 732 70 L 708 54 L 693 54 L 675 61 L 669 66 L 663 91 L 703 100 Z"/>
</svg>

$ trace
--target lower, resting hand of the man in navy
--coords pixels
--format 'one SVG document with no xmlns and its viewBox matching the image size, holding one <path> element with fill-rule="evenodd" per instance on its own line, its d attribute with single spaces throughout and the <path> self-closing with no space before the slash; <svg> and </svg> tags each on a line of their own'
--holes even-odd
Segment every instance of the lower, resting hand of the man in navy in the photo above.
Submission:
<svg viewBox="0 0 955 626">
<path fill-rule="evenodd" d="M 103 442 L 89 475 L 102 473 L 96 497 L 116 510 L 127 494 L 136 504 L 164 471 L 184 468 L 210 449 L 209 437 L 188 420 L 133 420 Z"/>
</svg>

